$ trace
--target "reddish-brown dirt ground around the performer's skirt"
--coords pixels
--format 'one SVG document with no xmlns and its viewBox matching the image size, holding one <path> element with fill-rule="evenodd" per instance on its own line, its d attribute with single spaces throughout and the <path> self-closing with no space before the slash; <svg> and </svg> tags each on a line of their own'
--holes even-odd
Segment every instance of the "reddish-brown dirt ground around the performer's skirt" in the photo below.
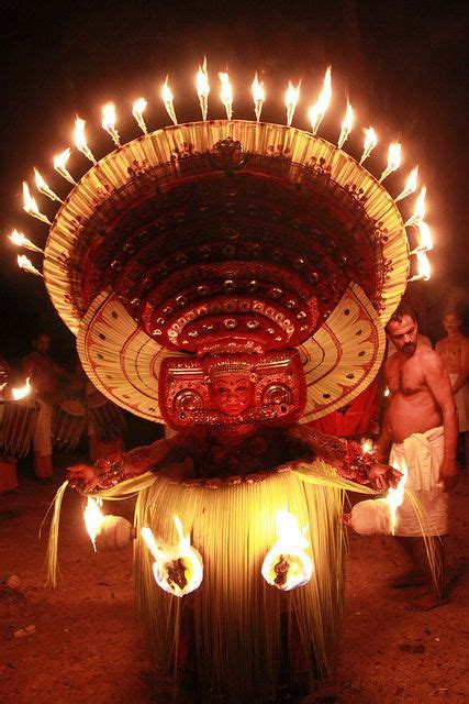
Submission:
<svg viewBox="0 0 469 704">
<path fill-rule="evenodd" d="M 46 540 L 38 541 L 37 531 L 64 475 L 57 470 L 54 484 L 40 485 L 26 472 L 20 493 L 0 496 L 0 701 L 166 703 L 171 697 L 152 679 L 135 623 L 132 548 L 94 553 L 85 532 L 81 498 L 72 491 L 63 507 L 59 585 L 55 591 L 43 586 Z M 469 700 L 468 494 L 464 475 L 453 495 L 451 598 L 432 612 L 406 610 L 405 594 L 389 587 L 405 566 L 392 538 L 350 536 L 342 652 L 322 702 Z M 119 509 L 132 516 L 129 503 Z M 13 574 L 20 583 L 12 590 L 5 580 Z M 15 636 L 29 626 L 35 627 L 33 632 Z M 186 702 L 182 696 L 177 701 Z"/>
</svg>

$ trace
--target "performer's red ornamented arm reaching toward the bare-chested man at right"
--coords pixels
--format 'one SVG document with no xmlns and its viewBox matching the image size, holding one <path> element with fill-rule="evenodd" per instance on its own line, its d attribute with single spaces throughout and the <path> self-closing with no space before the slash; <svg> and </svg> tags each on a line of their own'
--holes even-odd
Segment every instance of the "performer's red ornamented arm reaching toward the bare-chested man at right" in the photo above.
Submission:
<svg viewBox="0 0 469 704">
<path fill-rule="evenodd" d="M 371 483 L 378 490 L 395 486 L 401 473 L 387 464 L 380 464 L 359 444 L 326 436 L 308 426 L 292 426 L 288 430 L 290 440 L 300 441 L 314 454 L 332 464 L 344 479 L 359 484 Z"/>
</svg>

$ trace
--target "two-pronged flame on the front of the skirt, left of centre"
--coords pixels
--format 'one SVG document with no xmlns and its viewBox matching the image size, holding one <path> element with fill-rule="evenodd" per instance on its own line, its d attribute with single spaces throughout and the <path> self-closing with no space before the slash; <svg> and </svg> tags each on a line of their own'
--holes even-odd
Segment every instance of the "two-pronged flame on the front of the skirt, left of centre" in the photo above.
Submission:
<svg viewBox="0 0 469 704">
<path fill-rule="evenodd" d="M 155 558 L 153 574 L 156 583 L 168 594 L 185 596 L 197 590 L 203 579 L 203 561 L 200 552 L 190 544 L 190 534 L 183 535 L 182 524 L 174 516 L 179 542 L 177 547 L 156 543 L 149 528 L 142 528 L 142 538 Z"/>
</svg>

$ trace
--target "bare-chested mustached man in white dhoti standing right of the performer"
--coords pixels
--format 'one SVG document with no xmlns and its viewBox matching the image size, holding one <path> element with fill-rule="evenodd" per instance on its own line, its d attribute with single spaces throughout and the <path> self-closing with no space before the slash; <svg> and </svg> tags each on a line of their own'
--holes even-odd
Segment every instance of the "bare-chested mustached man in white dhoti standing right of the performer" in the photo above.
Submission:
<svg viewBox="0 0 469 704">
<path fill-rule="evenodd" d="M 387 326 L 397 352 L 388 359 L 386 378 L 390 395 L 378 441 L 377 460 L 390 463 L 405 460 L 407 487 L 426 510 L 431 535 L 448 531 L 447 491 L 456 482 L 457 417 L 448 373 L 439 358 L 417 338 L 412 310 L 397 310 Z M 391 448 L 392 444 L 392 448 Z M 426 566 L 426 553 L 415 514 L 405 499 L 398 512 L 397 536 L 412 560 L 412 571 L 394 586 L 423 585 L 424 592 L 412 602 L 416 610 L 434 608 L 446 601 L 444 590 L 444 546 L 438 550 L 438 584 Z"/>
</svg>

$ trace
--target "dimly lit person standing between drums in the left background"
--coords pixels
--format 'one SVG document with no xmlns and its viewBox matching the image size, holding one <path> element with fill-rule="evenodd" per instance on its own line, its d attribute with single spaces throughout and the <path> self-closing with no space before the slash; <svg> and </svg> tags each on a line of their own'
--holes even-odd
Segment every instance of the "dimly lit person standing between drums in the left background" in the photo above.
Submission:
<svg viewBox="0 0 469 704">
<path fill-rule="evenodd" d="M 51 338 L 41 332 L 32 340 L 31 352 L 23 358 L 23 372 L 30 377 L 40 410 L 34 429 L 34 471 L 36 477 L 45 482 L 53 476 L 52 462 L 52 421 L 54 406 L 64 397 L 62 382 L 68 382 L 70 375 L 54 362 L 48 354 Z"/>
</svg>

